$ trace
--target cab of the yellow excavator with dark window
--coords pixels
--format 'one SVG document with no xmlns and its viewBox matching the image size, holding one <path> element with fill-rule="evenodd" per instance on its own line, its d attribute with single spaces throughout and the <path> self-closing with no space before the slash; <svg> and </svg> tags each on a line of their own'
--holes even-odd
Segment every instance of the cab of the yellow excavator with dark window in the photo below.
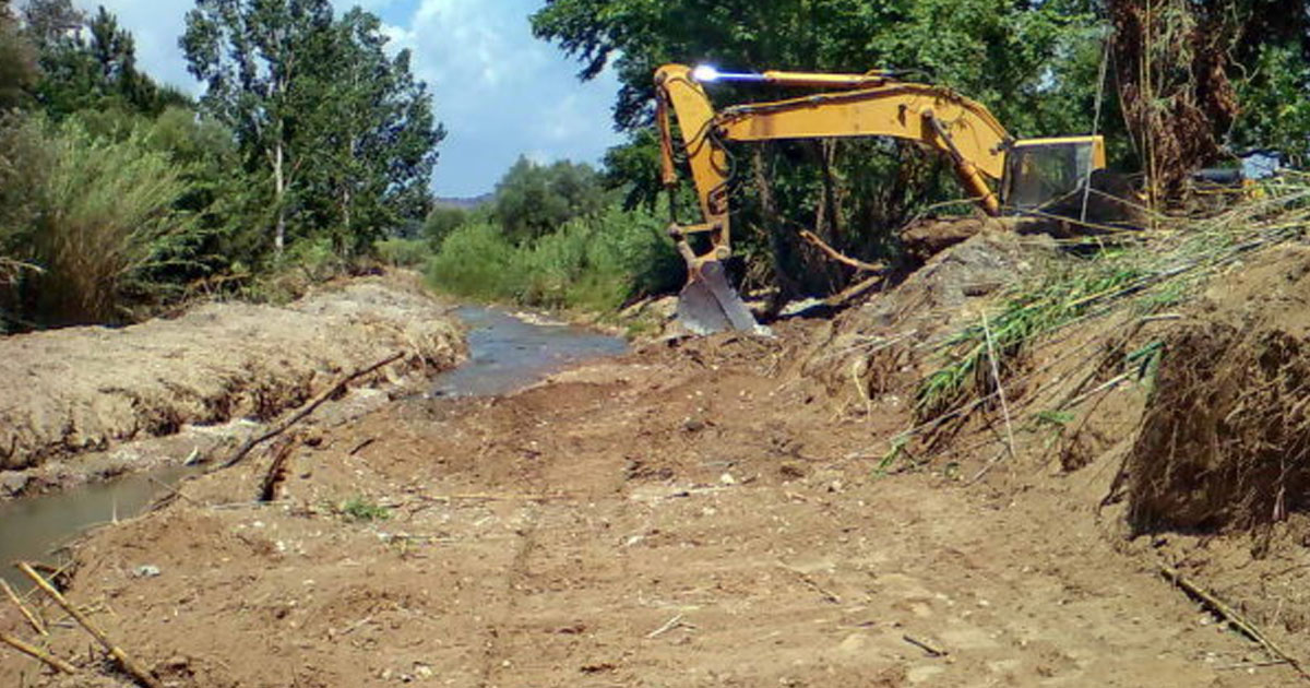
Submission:
<svg viewBox="0 0 1310 688">
<path fill-rule="evenodd" d="M 1006 151 L 1001 203 L 1019 212 L 1040 208 L 1082 189 L 1104 166 L 1102 136 L 1017 140 Z"/>
</svg>

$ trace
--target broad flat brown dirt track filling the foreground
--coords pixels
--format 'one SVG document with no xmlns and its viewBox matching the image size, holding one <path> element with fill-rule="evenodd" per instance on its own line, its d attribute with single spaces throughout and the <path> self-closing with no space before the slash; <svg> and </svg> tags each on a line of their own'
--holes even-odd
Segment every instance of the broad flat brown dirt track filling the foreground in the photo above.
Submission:
<svg viewBox="0 0 1310 688">
<path fill-rule="evenodd" d="M 267 457 L 191 481 L 77 546 L 69 594 L 200 688 L 1296 684 L 1098 519 L 1114 467 L 879 472 L 905 402 L 836 408 L 816 328 L 309 430 L 282 501 L 252 503 Z M 0 684 L 130 685 L 50 646 L 84 675 L 10 653 Z"/>
</svg>

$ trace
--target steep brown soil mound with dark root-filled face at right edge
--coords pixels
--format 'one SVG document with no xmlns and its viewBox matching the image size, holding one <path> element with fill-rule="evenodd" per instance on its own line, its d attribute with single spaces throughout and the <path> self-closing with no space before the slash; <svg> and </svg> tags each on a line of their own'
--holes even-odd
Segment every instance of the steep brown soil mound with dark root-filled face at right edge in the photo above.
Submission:
<svg viewBox="0 0 1310 688">
<path fill-rule="evenodd" d="M 1307 275 L 1305 248 L 1263 256 L 1217 279 L 1166 339 L 1127 464 L 1137 532 L 1250 527 L 1310 507 Z"/>
</svg>

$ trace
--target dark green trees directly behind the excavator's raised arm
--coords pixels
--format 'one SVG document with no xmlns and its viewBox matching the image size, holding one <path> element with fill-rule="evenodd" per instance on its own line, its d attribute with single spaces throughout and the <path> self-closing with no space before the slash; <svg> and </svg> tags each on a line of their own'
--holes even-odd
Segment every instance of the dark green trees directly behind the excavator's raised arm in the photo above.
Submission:
<svg viewBox="0 0 1310 688">
<path fill-rule="evenodd" d="M 621 83 L 616 126 L 633 135 L 610 160 L 629 172 L 629 202 L 654 207 L 659 187 L 650 134 L 654 69 L 667 62 L 734 71 L 865 72 L 896 67 L 990 107 L 1018 136 L 1091 128 L 1102 24 L 1091 3 L 1049 0 L 550 0 L 533 14 L 591 79 L 613 66 Z M 794 93 L 794 92 L 793 92 Z M 774 88 L 715 86 L 717 106 L 786 96 Z M 1107 102 L 1112 109 L 1114 104 Z M 1115 122 L 1108 113 L 1102 124 Z M 779 283 L 828 283 L 795 240 L 812 228 L 838 250 L 872 257 L 892 229 L 959 191 L 950 165 L 912 144 L 816 140 L 770 143 L 751 161 L 738 147 L 734 218 L 744 254 L 766 256 Z M 641 159 L 646 161 L 642 162 Z M 747 177 L 755 181 L 745 181 Z M 688 176 L 683 176 L 688 178 Z M 850 277 L 850 275 L 845 275 Z M 817 283 L 815 283 L 817 282 Z"/>
</svg>

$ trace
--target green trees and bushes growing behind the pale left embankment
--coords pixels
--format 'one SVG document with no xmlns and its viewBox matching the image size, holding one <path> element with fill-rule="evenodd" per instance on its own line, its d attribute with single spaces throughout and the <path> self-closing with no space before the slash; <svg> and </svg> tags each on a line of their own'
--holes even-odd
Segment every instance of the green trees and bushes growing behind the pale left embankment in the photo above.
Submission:
<svg viewBox="0 0 1310 688">
<path fill-rule="evenodd" d="M 444 130 L 377 17 L 198 0 L 179 45 L 199 100 L 103 8 L 0 0 L 0 332 L 276 296 L 423 223 Z"/>
</svg>

